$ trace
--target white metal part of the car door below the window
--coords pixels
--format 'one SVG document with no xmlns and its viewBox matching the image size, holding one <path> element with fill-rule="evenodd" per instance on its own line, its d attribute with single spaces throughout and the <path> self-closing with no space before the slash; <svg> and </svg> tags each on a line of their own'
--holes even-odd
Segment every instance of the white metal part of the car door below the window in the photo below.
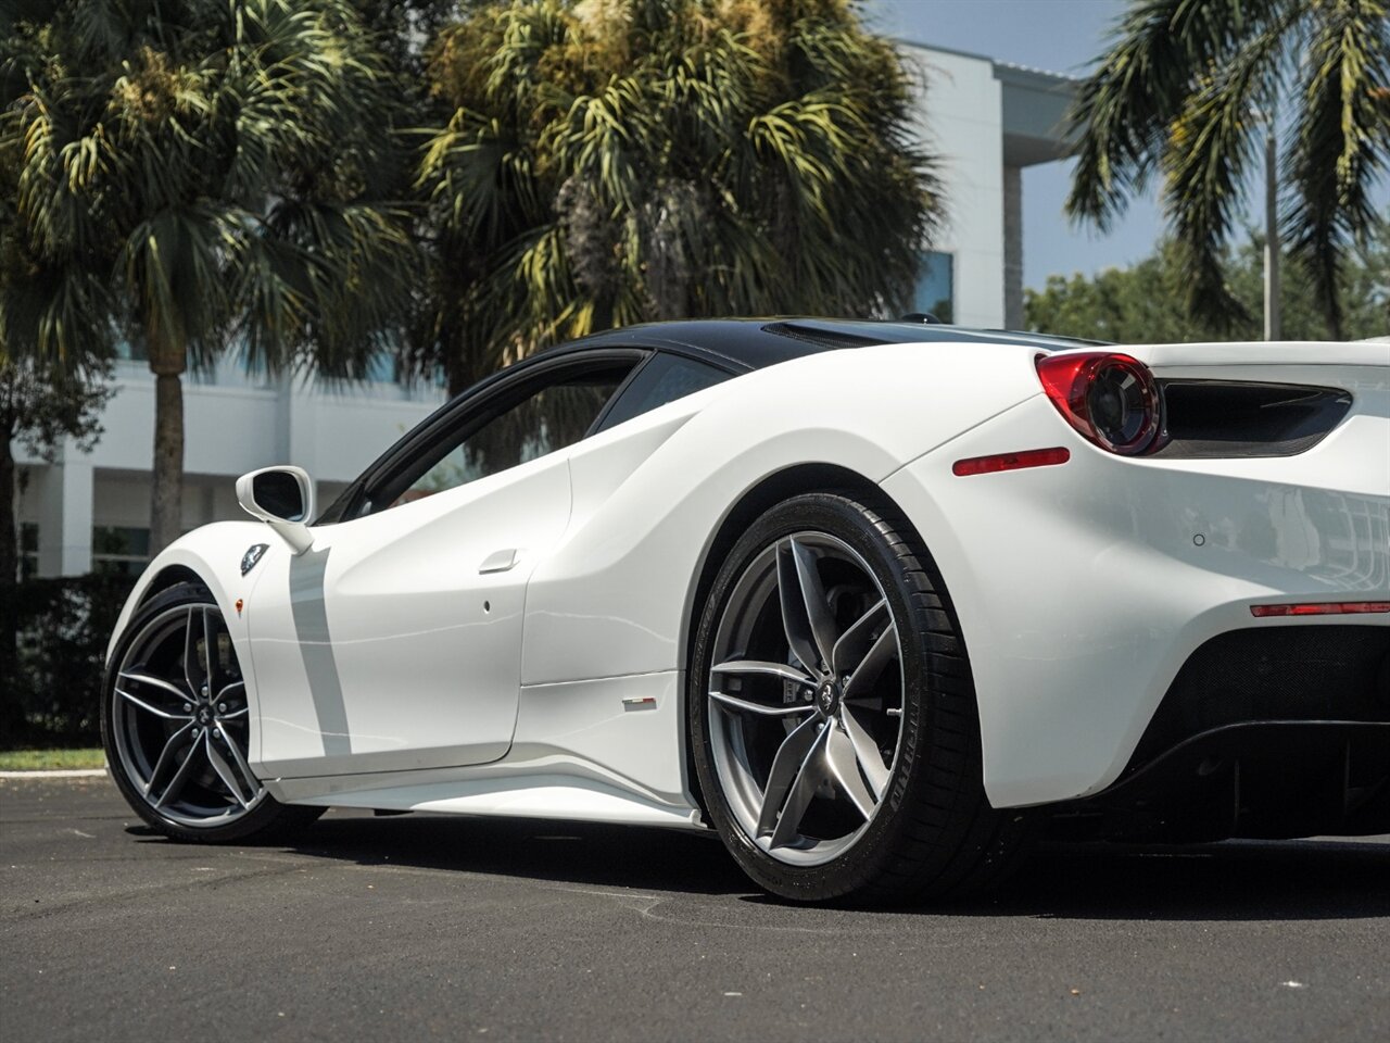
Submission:
<svg viewBox="0 0 1390 1043">
<path fill-rule="evenodd" d="M 564 531 L 545 458 L 314 528 L 261 567 L 250 611 L 261 769 L 275 777 L 485 763 L 516 725 L 525 584 Z M 506 570 L 480 573 L 496 552 Z"/>
</svg>

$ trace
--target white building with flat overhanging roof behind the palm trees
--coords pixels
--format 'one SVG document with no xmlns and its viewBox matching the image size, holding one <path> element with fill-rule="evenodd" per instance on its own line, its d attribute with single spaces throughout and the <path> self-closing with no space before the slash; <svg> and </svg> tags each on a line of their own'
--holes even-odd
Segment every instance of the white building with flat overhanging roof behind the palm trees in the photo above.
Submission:
<svg viewBox="0 0 1390 1043">
<path fill-rule="evenodd" d="M 976 327 L 1023 321 L 1022 168 L 1065 154 L 1059 124 L 1074 81 L 990 58 L 905 45 L 926 90 L 919 127 L 942 159 L 948 221 L 926 259 L 916 310 Z M 24 471 L 21 549 L 42 576 L 139 569 L 147 558 L 154 377 L 117 366 L 117 394 L 93 452 L 63 446 L 54 463 L 15 444 Z M 320 388 L 267 381 L 224 362 L 185 377 L 186 528 L 238 517 L 236 476 L 295 463 L 328 503 L 409 427 L 443 401 L 393 382 Z"/>
</svg>

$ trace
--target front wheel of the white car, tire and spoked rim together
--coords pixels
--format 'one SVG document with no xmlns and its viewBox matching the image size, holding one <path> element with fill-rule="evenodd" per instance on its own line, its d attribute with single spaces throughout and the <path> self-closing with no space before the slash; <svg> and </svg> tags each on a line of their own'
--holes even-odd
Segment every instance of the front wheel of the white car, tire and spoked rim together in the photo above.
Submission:
<svg viewBox="0 0 1390 1043">
<path fill-rule="evenodd" d="M 291 809 L 252 770 L 249 729 L 240 663 L 211 594 L 183 584 L 154 598 L 121 638 L 103 706 L 107 762 L 126 800 L 185 839 L 281 825 Z"/>
</svg>

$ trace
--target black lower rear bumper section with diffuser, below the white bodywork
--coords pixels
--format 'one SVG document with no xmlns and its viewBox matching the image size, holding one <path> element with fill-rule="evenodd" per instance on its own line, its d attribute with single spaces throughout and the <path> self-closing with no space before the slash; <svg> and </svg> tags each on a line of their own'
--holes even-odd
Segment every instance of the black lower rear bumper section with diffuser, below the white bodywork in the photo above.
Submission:
<svg viewBox="0 0 1390 1043">
<path fill-rule="evenodd" d="M 1390 833 L 1390 627 L 1251 627 L 1177 672 L 1119 782 L 1069 836 Z"/>
</svg>

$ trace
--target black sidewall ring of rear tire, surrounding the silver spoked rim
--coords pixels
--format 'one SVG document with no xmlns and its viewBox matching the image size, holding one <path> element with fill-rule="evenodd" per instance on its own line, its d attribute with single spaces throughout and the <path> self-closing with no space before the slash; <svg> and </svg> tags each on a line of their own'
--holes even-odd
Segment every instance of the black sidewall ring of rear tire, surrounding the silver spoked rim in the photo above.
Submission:
<svg viewBox="0 0 1390 1043">
<path fill-rule="evenodd" d="M 927 649 L 913 624 L 913 590 L 903 558 L 888 545 L 877 513 L 834 494 L 806 494 L 767 510 L 738 540 L 716 574 L 701 612 L 691 659 L 687 716 L 692 759 L 710 818 L 738 864 L 769 891 L 805 901 L 852 894 L 888 866 L 898 850 L 906 797 L 926 770 L 923 737 L 931 726 L 927 698 Z M 883 588 L 898 627 L 903 673 L 903 713 L 898 752 L 888 790 L 877 814 L 859 840 L 823 865 L 798 866 L 781 862 L 753 844 L 738 825 L 724 797 L 710 750 L 709 691 L 710 655 L 728 595 L 752 560 L 777 540 L 802 531 L 823 531 L 842 540 L 869 565 Z"/>
</svg>

